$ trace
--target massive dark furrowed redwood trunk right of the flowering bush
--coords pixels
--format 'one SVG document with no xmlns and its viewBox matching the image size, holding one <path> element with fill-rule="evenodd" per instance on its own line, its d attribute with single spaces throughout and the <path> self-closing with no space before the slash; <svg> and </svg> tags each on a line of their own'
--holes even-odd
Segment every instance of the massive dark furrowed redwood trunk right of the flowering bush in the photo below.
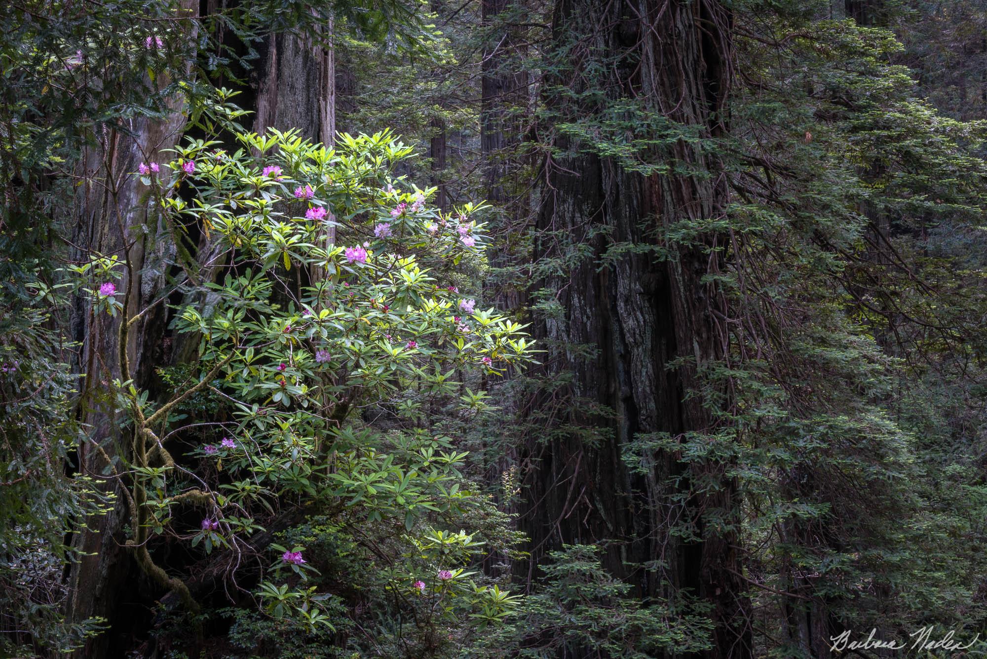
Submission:
<svg viewBox="0 0 987 659">
<path fill-rule="evenodd" d="M 732 45 L 729 12 L 719 2 L 557 0 L 553 29 L 553 45 L 566 53 L 570 73 L 547 82 L 550 91 L 566 90 L 546 98 L 556 125 L 587 115 L 617 115 L 640 125 L 642 115 L 627 110 L 633 108 L 658 126 L 636 128 L 644 133 L 636 137 L 655 137 L 663 129 L 657 117 L 672 122 L 670 131 L 706 140 L 725 132 Z M 630 130 L 602 140 L 618 140 Z M 679 223 L 697 226 L 724 213 L 722 164 L 709 144 L 702 148 L 685 139 L 646 148 L 624 162 L 601 155 L 605 149 L 577 132 L 557 129 L 552 147 L 536 257 L 566 257 L 574 264 L 562 276 L 535 283 L 534 290 L 557 291 L 565 310 L 564 318 L 546 320 L 536 331 L 549 339 L 543 361 L 550 375 L 572 374 L 571 411 L 563 423 L 594 430 L 531 442 L 535 469 L 522 524 L 532 537 L 532 561 L 564 543 L 605 547 L 604 565 L 639 595 L 689 589 L 710 605 L 716 629 L 706 656 L 749 657 L 736 484 L 722 465 L 686 466 L 669 451 L 638 449 L 640 470 L 625 461 L 647 436 L 717 429 L 703 398 L 689 393 L 704 384 L 699 370 L 726 349 L 716 322 L 724 302 L 715 285 L 704 282 L 720 267 L 720 253 L 711 254 L 718 237 L 702 234 L 685 246 L 660 236 Z M 628 167 L 642 161 L 658 169 Z M 588 255 L 571 260 L 569 241 L 588 246 Z M 614 245 L 660 247 L 668 256 L 633 250 L 602 261 Z M 570 347 L 576 344 L 595 352 L 580 357 Z M 679 358 L 686 361 L 671 367 Z M 539 403 L 544 407 L 558 394 Z M 690 482 L 699 477 L 717 486 L 695 493 Z M 728 524 L 707 524 L 711 515 Z M 686 521 L 697 540 L 670 533 Z M 658 568 L 645 569 L 647 563 Z"/>
</svg>

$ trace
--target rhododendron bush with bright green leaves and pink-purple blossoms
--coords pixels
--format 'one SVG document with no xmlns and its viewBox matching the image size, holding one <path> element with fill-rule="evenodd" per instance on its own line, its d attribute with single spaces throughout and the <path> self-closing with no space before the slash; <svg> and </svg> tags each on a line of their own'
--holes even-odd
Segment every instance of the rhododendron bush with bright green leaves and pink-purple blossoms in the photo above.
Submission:
<svg viewBox="0 0 987 659">
<path fill-rule="evenodd" d="M 266 616 L 314 633 L 339 624 L 326 584 L 358 575 L 323 574 L 304 534 L 268 526 L 317 519 L 370 548 L 388 606 L 422 637 L 465 617 L 502 621 L 514 598 L 470 569 L 485 540 L 463 526 L 495 510 L 429 414 L 488 412 L 486 394 L 461 381 L 531 359 L 521 326 L 453 283 L 482 263 L 482 205 L 430 207 L 432 190 L 395 176 L 412 149 L 389 132 L 342 135 L 335 149 L 295 131 L 236 139 L 192 140 L 134 175 L 180 246 L 175 329 L 200 339 L 165 403 L 115 383 L 133 426 L 115 472 L 129 483 L 128 545 L 191 611 L 189 578 L 155 561 L 165 542 L 250 590 Z M 198 268 L 183 260 L 191 227 L 210 251 Z M 113 281 L 125 269 L 104 259 L 89 271 L 106 312 L 127 308 Z M 225 411 L 196 417 L 192 401 Z"/>
</svg>

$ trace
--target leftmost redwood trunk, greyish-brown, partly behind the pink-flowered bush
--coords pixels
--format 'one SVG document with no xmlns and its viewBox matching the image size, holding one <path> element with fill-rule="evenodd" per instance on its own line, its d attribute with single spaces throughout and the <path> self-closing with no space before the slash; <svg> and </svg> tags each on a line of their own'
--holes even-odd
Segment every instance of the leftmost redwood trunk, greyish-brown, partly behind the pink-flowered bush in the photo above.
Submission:
<svg viewBox="0 0 987 659">
<path fill-rule="evenodd" d="M 180 11 L 194 13 L 197 8 L 196 1 L 186 0 Z M 120 293 L 127 295 L 127 318 L 149 307 L 164 293 L 165 270 L 176 256 L 172 236 L 158 210 L 153 203 L 141 199 L 147 188 L 132 174 L 141 162 L 169 159 L 164 151 L 180 140 L 186 122 L 182 99 L 173 99 L 170 105 L 171 112 L 163 120 L 134 119 L 136 137 L 109 128 L 80 165 L 83 180 L 102 184 L 90 186 L 77 197 L 73 245 L 78 251 L 73 258 L 85 261 L 100 253 L 129 261 L 123 278 L 117 282 Z M 157 305 L 127 333 L 127 361 L 138 387 L 148 387 L 153 377 L 156 360 L 152 355 L 161 350 L 165 311 L 164 304 Z M 82 347 L 75 366 L 86 376 L 79 414 L 91 426 L 93 440 L 104 445 L 110 456 L 116 455 L 120 430 L 109 411 L 112 405 L 104 399 L 109 383 L 121 377 L 117 350 L 120 322 L 121 315 L 110 318 L 94 314 L 86 296 L 77 299 L 72 330 Z M 92 444 L 79 447 L 78 467 L 83 474 L 95 476 L 107 491 L 117 490 L 116 482 L 104 474 L 106 461 Z M 117 496 L 112 512 L 87 520 L 87 526 L 81 527 L 73 540 L 81 558 L 68 574 L 69 614 L 77 622 L 104 618 L 111 629 L 91 638 L 72 656 L 110 657 L 123 651 L 123 636 L 134 615 L 125 604 L 135 599 L 134 580 L 139 575 L 123 549 L 123 526 L 128 520 L 125 503 Z"/>
</svg>

